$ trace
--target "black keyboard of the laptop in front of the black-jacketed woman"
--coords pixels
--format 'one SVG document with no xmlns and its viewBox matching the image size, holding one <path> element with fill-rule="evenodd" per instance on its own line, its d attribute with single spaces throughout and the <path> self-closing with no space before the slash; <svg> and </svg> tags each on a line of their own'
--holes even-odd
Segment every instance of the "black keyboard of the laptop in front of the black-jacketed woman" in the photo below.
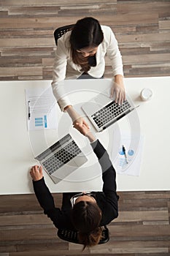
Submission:
<svg viewBox="0 0 170 256">
<path fill-rule="evenodd" d="M 80 154 L 82 151 L 74 142 L 67 144 L 65 147 L 61 148 L 57 153 L 53 154 L 52 157 L 43 162 L 47 172 L 51 175 L 62 165 L 65 165 L 67 162 L 72 160 L 77 154 Z"/>
</svg>

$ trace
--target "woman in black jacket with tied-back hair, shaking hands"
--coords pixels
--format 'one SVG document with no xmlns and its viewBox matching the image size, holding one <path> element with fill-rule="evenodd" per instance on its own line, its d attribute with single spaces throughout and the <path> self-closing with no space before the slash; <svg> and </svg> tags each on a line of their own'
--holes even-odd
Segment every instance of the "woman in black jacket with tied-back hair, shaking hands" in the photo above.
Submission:
<svg viewBox="0 0 170 256">
<path fill-rule="evenodd" d="M 42 167 L 35 165 L 31 167 L 30 173 L 36 198 L 44 209 L 44 213 L 58 229 L 77 230 L 79 241 L 85 248 L 85 246 L 98 244 L 101 239 L 101 227 L 117 218 L 119 197 L 116 192 L 115 169 L 107 151 L 85 124 L 77 124 L 77 129 L 88 137 L 98 157 L 102 169 L 102 192 L 82 192 L 78 195 L 63 193 L 61 208 L 55 208 L 53 196 L 45 184 Z"/>
</svg>

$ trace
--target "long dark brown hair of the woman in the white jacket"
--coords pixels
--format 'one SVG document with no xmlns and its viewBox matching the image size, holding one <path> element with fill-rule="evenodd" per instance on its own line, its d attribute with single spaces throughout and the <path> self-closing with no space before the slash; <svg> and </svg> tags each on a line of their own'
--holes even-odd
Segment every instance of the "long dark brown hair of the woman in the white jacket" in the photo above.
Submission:
<svg viewBox="0 0 170 256">
<path fill-rule="evenodd" d="M 92 17 L 77 20 L 70 35 L 71 56 L 74 64 L 80 65 L 83 71 L 88 72 L 90 69 L 88 58 L 83 57 L 77 50 L 98 47 L 103 39 L 104 35 L 98 20 Z"/>
</svg>

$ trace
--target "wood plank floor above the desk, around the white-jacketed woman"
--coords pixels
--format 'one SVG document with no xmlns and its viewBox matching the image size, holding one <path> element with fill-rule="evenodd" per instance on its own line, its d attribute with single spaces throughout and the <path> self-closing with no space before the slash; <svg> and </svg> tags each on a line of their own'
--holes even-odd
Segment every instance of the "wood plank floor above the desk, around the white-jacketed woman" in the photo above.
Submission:
<svg viewBox="0 0 170 256">
<path fill-rule="evenodd" d="M 1 0 L 0 80 L 52 79 L 53 31 L 85 16 L 115 32 L 125 77 L 170 75 L 169 0 Z"/>
</svg>

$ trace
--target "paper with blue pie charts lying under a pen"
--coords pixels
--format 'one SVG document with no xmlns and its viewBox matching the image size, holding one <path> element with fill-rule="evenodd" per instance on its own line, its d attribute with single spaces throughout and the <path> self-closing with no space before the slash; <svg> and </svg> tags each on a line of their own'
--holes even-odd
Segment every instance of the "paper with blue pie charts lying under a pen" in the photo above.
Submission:
<svg viewBox="0 0 170 256">
<path fill-rule="evenodd" d="M 117 157 L 115 157 L 114 148 L 112 148 L 111 154 L 112 164 L 115 167 L 116 172 L 131 176 L 139 176 L 142 162 L 143 136 L 134 135 L 132 137 L 130 135 L 122 135 L 120 140 L 120 148 L 117 152 Z M 125 159 L 123 146 L 125 146 L 128 163 Z"/>
</svg>

